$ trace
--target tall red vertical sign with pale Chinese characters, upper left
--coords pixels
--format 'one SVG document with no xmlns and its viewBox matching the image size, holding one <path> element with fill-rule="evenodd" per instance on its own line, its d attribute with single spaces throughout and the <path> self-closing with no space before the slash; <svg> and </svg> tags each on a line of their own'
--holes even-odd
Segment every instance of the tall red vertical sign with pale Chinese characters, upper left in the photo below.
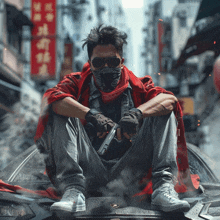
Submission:
<svg viewBox="0 0 220 220">
<path fill-rule="evenodd" d="M 32 0 L 31 78 L 56 78 L 56 0 Z"/>
</svg>

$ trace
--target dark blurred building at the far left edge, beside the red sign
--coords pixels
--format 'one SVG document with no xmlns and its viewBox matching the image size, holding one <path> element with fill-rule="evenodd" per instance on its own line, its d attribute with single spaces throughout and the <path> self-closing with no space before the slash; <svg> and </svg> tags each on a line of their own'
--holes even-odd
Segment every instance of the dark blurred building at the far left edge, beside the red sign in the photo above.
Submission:
<svg viewBox="0 0 220 220">
<path fill-rule="evenodd" d="M 0 117 L 19 101 L 26 57 L 23 31 L 33 23 L 24 14 L 24 1 L 0 1 Z"/>
</svg>

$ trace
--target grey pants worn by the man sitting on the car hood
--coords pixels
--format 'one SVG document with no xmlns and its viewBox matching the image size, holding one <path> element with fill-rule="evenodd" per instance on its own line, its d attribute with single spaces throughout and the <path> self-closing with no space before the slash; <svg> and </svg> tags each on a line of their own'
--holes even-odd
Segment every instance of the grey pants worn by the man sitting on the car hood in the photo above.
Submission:
<svg viewBox="0 0 220 220">
<path fill-rule="evenodd" d="M 172 181 L 177 174 L 177 122 L 174 113 L 147 117 L 132 146 L 111 169 L 107 169 L 92 147 L 78 118 L 52 114 L 37 145 L 44 154 L 48 176 L 63 193 L 75 187 L 83 193 L 126 177 L 126 184 L 138 181 L 152 167 L 153 189 Z"/>
</svg>

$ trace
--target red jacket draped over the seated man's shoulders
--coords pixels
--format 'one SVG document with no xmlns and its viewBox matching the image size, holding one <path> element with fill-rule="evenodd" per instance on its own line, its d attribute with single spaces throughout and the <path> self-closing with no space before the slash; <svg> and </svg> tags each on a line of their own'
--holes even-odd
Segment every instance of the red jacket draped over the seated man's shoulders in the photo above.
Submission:
<svg viewBox="0 0 220 220">
<path fill-rule="evenodd" d="M 129 83 L 132 87 L 132 98 L 135 107 L 149 101 L 159 93 L 172 94 L 161 87 L 154 87 L 154 83 L 150 76 L 144 76 L 141 78 L 136 77 L 131 71 L 129 71 L 125 66 L 122 69 L 122 75 L 125 74 L 128 77 Z M 84 106 L 89 106 L 89 82 L 91 80 L 92 73 L 90 66 L 86 63 L 83 67 L 82 72 L 71 73 L 64 77 L 64 79 L 59 82 L 55 87 L 48 89 L 43 96 L 41 104 L 41 115 L 39 118 L 37 132 L 35 136 L 35 141 L 37 141 L 43 134 L 44 127 L 47 123 L 49 116 L 49 105 L 57 100 L 63 99 L 65 97 L 71 97 L 77 100 Z M 198 188 L 198 176 L 193 176 L 196 179 L 191 181 L 189 163 L 187 156 L 187 147 L 185 140 L 185 130 L 182 119 L 182 110 L 180 104 L 177 103 L 174 113 L 178 121 L 177 127 L 177 164 L 178 164 L 178 183 L 176 184 L 176 190 L 178 192 L 185 192 L 187 190 L 195 190 Z M 82 120 L 84 124 L 85 121 Z M 151 177 L 151 172 L 148 173 L 147 183 Z M 143 181 L 143 180 L 142 180 Z M 145 182 L 146 182 L 145 181 Z M 149 184 L 145 191 L 152 192 Z"/>
</svg>

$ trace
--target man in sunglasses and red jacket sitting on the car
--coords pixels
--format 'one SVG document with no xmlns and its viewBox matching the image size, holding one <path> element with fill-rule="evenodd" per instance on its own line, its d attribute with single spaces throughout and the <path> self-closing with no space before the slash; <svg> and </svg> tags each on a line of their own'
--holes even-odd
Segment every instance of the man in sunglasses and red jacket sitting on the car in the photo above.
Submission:
<svg viewBox="0 0 220 220">
<path fill-rule="evenodd" d="M 165 212 L 190 208 L 178 198 L 173 182 L 178 174 L 178 100 L 154 87 L 150 76 L 137 78 L 126 68 L 126 37 L 112 26 L 92 29 L 83 45 L 89 60 L 82 72 L 67 75 L 44 95 L 36 142 L 45 154 L 51 182 L 63 194 L 52 211 L 85 211 L 89 192 L 105 187 L 122 172 L 129 176 L 129 185 L 150 168 L 152 206 Z M 111 147 L 98 155 L 116 124 Z M 187 155 L 185 159 L 188 169 Z"/>
</svg>

